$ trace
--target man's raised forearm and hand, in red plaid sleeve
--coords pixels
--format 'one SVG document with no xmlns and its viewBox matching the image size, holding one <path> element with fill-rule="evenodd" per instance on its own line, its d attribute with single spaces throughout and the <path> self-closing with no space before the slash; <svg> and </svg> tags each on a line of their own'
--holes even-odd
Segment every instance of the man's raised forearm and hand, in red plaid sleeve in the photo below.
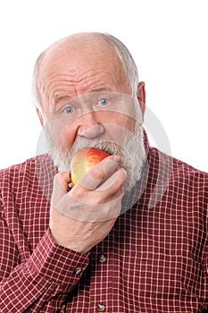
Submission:
<svg viewBox="0 0 208 313">
<path fill-rule="evenodd" d="M 4 277 L 0 287 L 0 309 L 3 312 L 43 310 L 56 295 L 66 295 L 79 283 L 88 264 L 86 253 L 108 235 L 121 210 L 126 172 L 118 168 L 117 162 L 109 163 L 111 159 L 109 157 L 108 161 L 105 159 L 102 164 L 96 165 L 96 169 L 84 178 L 85 182 L 82 181 L 70 192 L 69 173 L 55 176 L 50 229 L 32 255 L 28 251 L 29 256 L 24 256 L 25 260 L 21 263 L 21 256 L 18 256 L 20 251 L 17 253 L 15 250 L 17 242 L 12 239 L 3 216 L 0 225 L 1 233 L 4 234 L 0 258 L 6 260 L 6 274 L 3 273 L 3 267 L 0 270 L 0 275 Z M 103 182 L 102 186 L 100 182 Z M 89 184 L 95 184 L 94 188 L 91 186 L 88 189 Z M 19 235 L 16 241 L 21 241 L 20 237 Z M 10 241 L 6 240 L 8 238 Z M 9 256 L 6 252 L 8 243 L 12 246 L 13 253 L 17 254 L 16 262 L 12 265 L 12 250 Z M 21 251 L 21 254 L 24 253 Z M 61 307 L 62 304 L 60 303 Z"/>
</svg>

